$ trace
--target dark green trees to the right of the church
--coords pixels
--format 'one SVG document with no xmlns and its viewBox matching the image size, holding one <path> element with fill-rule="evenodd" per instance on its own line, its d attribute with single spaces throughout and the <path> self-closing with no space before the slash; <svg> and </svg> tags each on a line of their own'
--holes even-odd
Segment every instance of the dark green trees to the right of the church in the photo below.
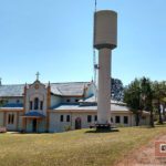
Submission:
<svg viewBox="0 0 166 166">
<path fill-rule="evenodd" d="M 124 102 L 136 115 L 136 124 L 139 122 L 139 113 L 147 111 L 151 113 L 151 125 L 153 124 L 154 110 L 156 110 L 159 120 L 163 123 L 166 107 L 166 82 L 151 81 L 148 77 L 135 79 L 124 90 Z"/>
</svg>

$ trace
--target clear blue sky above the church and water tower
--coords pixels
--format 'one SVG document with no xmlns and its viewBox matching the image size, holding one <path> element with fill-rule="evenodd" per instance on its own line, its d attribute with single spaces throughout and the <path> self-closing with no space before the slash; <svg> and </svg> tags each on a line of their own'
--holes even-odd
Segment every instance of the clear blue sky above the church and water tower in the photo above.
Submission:
<svg viewBox="0 0 166 166">
<path fill-rule="evenodd" d="M 165 80 L 166 1 L 97 0 L 118 12 L 112 75 Z M 94 0 L 0 0 L 3 83 L 91 81 Z"/>
</svg>

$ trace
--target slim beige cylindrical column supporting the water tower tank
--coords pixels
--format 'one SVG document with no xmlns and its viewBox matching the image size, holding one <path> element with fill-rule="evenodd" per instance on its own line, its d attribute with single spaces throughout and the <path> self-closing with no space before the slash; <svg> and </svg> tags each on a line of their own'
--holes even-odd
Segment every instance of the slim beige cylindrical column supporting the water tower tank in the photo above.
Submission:
<svg viewBox="0 0 166 166">
<path fill-rule="evenodd" d="M 111 122 L 111 49 L 98 50 L 98 124 Z"/>
</svg>

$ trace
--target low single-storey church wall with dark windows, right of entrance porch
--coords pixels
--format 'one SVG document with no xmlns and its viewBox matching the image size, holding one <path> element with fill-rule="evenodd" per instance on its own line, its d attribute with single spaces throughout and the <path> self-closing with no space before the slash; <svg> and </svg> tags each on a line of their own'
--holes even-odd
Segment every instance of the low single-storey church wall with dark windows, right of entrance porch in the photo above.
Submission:
<svg viewBox="0 0 166 166">
<path fill-rule="evenodd" d="M 61 115 L 63 115 L 63 122 L 61 122 Z M 66 116 L 70 115 L 70 122 L 66 122 Z M 87 115 L 91 115 L 92 121 L 87 122 Z M 50 113 L 50 132 L 64 132 L 65 129 L 75 129 L 75 120 L 81 118 L 81 127 L 89 128 L 90 125 L 95 123 L 96 113 L 80 112 L 51 112 Z M 116 123 L 116 116 L 120 116 L 120 123 Z M 124 122 L 124 116 L 127 117 L 127 124 Z M 134 115 L 128 113 L 112 113 L 113 124 L 115 126 L 135 126 Z"/>
</svg>

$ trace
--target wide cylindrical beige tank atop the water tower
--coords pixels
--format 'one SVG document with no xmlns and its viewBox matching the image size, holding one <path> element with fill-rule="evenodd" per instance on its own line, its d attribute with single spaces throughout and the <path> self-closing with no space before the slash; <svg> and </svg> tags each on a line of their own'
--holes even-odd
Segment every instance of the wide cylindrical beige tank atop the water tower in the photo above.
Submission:
<svg viewBox="0 0 166 166">
<path fill-rule="evenodd" d="M 101 10 L 94 13 L 94 48 L 114 49 L 117 45 L 117 13 Z"/>
</svg>

